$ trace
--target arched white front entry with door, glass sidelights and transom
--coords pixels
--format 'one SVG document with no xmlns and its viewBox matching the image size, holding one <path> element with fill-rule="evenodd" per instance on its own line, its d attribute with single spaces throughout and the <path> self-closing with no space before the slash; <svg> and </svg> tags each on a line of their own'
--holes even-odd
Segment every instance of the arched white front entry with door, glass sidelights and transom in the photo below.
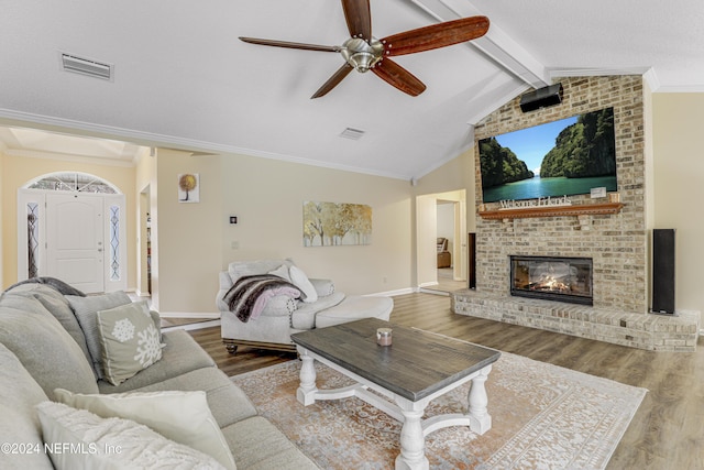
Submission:
<svg viewBox="0 0 704 470">
<path fill-rule="evenodd" d="M 87 294 L 127 288 L 125 198 L 94 175 L 44 175 L 18 190 L 18 281 L 52 276 Z"/>
</svg>

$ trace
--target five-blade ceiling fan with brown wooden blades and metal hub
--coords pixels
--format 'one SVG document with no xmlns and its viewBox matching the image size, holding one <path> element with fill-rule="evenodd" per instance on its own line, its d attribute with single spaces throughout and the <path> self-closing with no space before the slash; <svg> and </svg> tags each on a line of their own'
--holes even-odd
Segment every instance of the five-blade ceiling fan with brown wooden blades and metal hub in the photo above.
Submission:
<svg viewBox="0 0 704 470">
<path fill-rule="evenodd" d="M 486 34 L 488 30 L 488 18 L 471 17 L 418 28 L 378 40 L 372 35 L 370 0 L 342 0 L 342 10 L 344 11 L 348 30 L 352 37 L 346 40 L 341 46 L 324 46 L 256 37 L 240 37 L 240 40 L 251 44 L 306 51 L 339 52 L 342 54 L 345 63 L 311 98 L 319 98 L 327 95 L 353 69 L 360 73 L 372 70 L 374 75 L 397 89 L 410 96 L 418 96 L 426 89 L 424 83 L 388 57 L 415 54 L 417 52 L 430 51 L 475 40 Z"/>
</svg>

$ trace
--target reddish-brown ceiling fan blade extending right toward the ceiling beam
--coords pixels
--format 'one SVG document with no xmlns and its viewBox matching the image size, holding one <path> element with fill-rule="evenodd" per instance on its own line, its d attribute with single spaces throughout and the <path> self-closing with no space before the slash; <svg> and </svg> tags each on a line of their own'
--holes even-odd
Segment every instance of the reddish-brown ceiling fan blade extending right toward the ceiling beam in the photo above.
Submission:
<svg viewBox="0 0 704 470">
<path fill-rule="evenodd" d="M 388 56 L 414 54 L 482 37 L 488 31 L 488 18 L 471 17 L 418 28 L 384 37 Z"/>
</svg>

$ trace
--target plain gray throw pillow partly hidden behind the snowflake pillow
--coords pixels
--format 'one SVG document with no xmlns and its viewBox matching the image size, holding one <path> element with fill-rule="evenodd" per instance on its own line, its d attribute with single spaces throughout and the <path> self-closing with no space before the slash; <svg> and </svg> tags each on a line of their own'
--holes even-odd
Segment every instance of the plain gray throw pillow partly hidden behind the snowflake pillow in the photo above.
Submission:
<svg viewBox="0 0 704 470">
<path fill-rule="evenodd" d="M 70 308 L 76 314 L 80 329 L 86 336 L 86 345 L 88 352 L 92 359 L 92 368 L 98 379 L 102 379 L 102 352 L 100 350 L 100 336 L 98 334 L 98 310 L 107 310 L 131 303 L 130 296 L 122 291 L 112 292 L 105 295 L 91 295 L 80 297 L 76 295 L 67 295 L 66 299 L 70 304 Z"/>
</svg>

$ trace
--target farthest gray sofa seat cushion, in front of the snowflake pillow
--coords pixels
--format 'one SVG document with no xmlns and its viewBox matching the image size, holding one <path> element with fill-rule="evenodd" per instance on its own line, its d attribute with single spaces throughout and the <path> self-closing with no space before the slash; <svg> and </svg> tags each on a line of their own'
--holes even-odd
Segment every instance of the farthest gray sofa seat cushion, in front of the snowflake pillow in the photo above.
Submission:
<svg viewBox="0 0 704 470">
<path fill-rule="evenodd" d="M 106 380 L 99 380 L 100 393 L 129 392 L 196 369 L 216 367 L 212 358 L 198 346 L 187 331 L 182 329 L 165 331 L 162 339 L 166 346 L 162 349 L 161 361 L 117 386 Z"/>
</svg>

